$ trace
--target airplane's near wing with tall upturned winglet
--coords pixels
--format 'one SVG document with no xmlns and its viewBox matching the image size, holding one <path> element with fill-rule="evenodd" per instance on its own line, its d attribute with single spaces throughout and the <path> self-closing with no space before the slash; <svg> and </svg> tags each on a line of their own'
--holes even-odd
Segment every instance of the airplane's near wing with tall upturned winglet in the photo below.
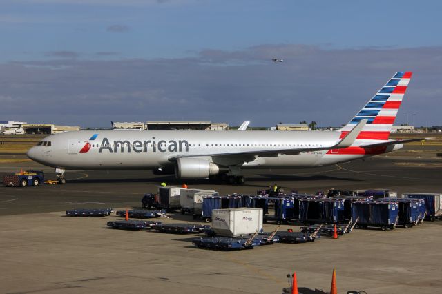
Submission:
<svg viewBox="0 0 442 294">
<path fill-rule="evenodd" d="M 367 119 L 362 119 L 352 130 L 343 137 L 337 144 L 333 146 L 305 146 L 302 148 L 287 148 L 282 147 L 276 150 L 250 150 L 250 151 L 240 151 L 240 152 L 229 152 L 229 153 L 206 153 L 200 155 L 177 155 L 169 157 L 169 161 L 175 161 L 178 158 L 184 157 L 234 157 L 238 159 L 238 161 L 251 161 L 255 159 L 255 156 L 260 157 L 275 157 L 279 154 L 285 155 L 298 155 L 301 152 L 312 152 L 312 151 L 322 151 L 322 150 L 330 150 L 330 149 L 342 149 L 352 146 L 356 137 L 358 137 L 359 133 L 367 123 Z"/>
</svg>

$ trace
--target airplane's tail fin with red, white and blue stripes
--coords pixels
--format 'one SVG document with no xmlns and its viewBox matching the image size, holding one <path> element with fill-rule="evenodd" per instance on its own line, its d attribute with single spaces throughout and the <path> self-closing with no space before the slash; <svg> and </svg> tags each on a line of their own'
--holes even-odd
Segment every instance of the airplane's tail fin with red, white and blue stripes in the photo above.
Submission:
<svg viewBox="0 0 442 294">
<path fill-rule="evenodd" d="M 387 140 L 411 77 L 412 72 L 396 72 L 355 117 L 340 129 L 341 137 L 345 137 L 359 121 L 367 119 L 356 141 Z"/>
</svg>

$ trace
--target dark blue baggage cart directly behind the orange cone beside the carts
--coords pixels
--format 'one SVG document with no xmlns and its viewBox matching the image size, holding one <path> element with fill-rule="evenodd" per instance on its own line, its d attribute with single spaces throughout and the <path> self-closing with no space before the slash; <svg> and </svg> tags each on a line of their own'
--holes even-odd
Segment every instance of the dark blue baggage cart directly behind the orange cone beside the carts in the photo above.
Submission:
<svg viewBox="0 0 442 294">
<path fill-rule="evenodd" d="M 343 199 L 299 199 L 299 220 L 336 224 L 345 221 Z"/>
</svg>

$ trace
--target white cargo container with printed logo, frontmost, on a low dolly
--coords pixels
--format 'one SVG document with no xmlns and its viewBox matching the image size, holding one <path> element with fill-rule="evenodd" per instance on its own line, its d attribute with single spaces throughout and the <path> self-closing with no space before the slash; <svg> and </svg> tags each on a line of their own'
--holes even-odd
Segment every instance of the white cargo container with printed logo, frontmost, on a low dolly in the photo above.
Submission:
<svg viewBox="0 0 442 294">
<path fill-rule="evenodd" d="M 212 210 L 212 228 L 217 235 L 233 237 L 262 230 L 261 208 L 228 208 Z"/>
</svg>

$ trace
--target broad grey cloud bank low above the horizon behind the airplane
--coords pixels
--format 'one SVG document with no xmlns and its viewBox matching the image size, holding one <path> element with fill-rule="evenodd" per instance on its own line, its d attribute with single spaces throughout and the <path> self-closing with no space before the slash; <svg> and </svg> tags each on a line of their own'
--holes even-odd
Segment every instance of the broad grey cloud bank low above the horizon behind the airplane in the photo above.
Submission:
<svg viewBox="0 0 442 294">
<path fill-rule="evenodd" d="M 64 51 L 61 51 L 64 52 Z M 69 52 L 69 51 L 67 51 Z M 72 52 L 71 52 L 72 53 Z M 74 52 L 75 53 L 75 52 Z M 317 121 L 340 126 L 398 70 L 414 72 L 398 114 L 440 124 L 442 47 L 327 50 L 296 44 L 207 49 L 180 59 L 102 59 L 52 52 L 0 64 L 0 117 L 82 126 L 110 121 L 201 119 L 253 126 Z M 271 58 L 284 62 L 273 63 Z M 7 117 L 6 117 L 7 116 Z"/>
</svg>

